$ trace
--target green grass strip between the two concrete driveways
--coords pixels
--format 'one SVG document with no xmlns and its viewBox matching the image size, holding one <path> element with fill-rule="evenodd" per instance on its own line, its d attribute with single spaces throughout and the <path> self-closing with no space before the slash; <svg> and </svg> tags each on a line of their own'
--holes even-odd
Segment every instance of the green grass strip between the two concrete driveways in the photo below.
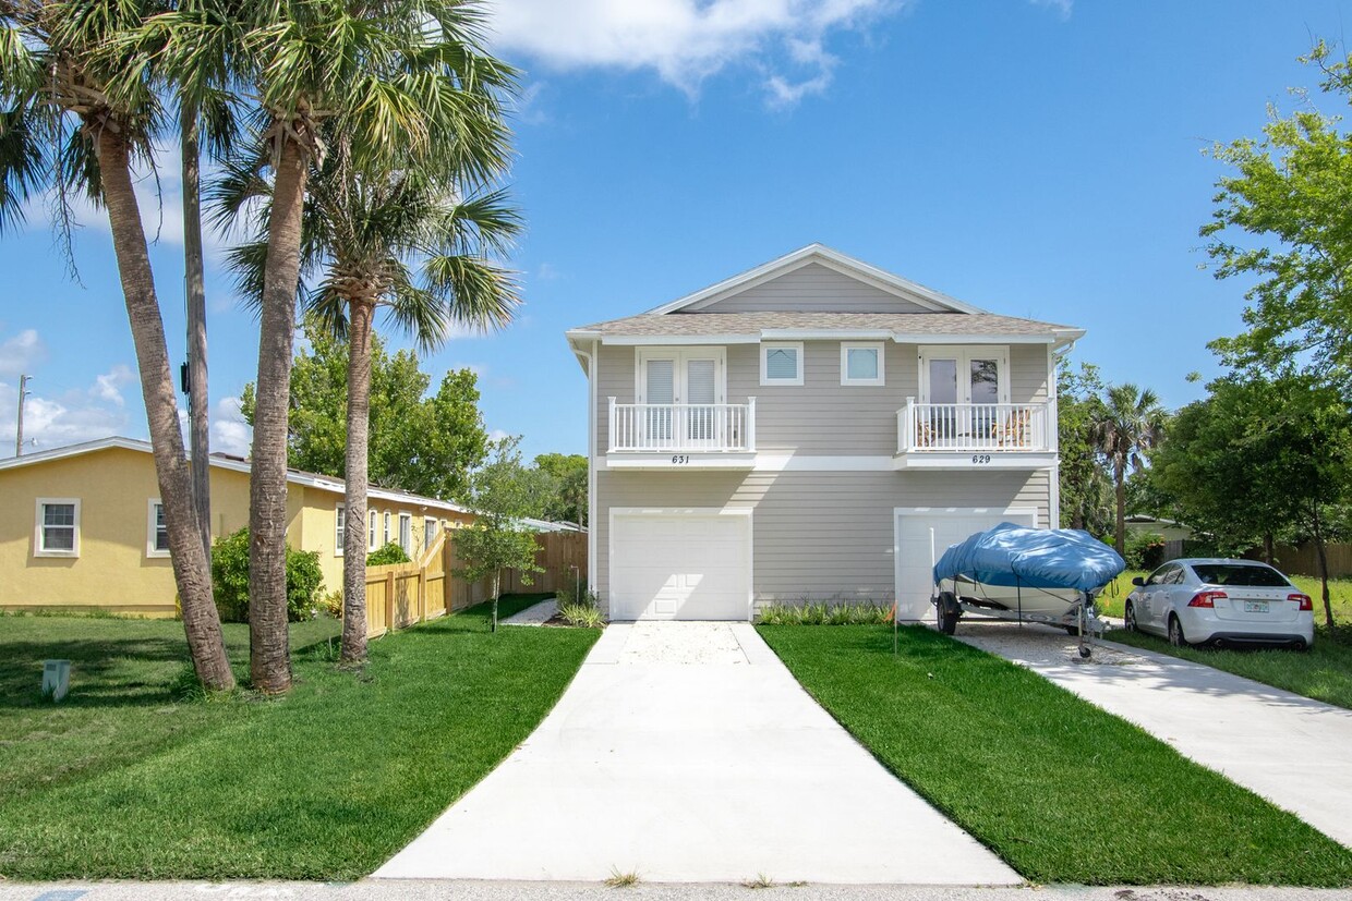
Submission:
<svg viewBox="0 0 1352 901">
<path fill-rule="evenodd" d="M 1033 882 L 1352 885 L 1352 851 L 1142 729 L 923 628 L 758 627 L 890 770 Z"/>
</svg>

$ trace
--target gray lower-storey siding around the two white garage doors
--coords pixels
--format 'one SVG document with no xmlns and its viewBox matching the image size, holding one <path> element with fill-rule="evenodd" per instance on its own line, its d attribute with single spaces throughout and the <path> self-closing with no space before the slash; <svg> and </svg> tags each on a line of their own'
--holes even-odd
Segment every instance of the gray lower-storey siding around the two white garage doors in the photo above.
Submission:
<svg viewBox="0 0 1352 901">
<path fill-rule="evenodd" d="M 896 507 L 1033 507 L 1048 527 L 1049 473 L 596 473 L 596 571 L 610 589 L 614 507 L 750 507 L 757 604 L 872 598 L 895 592 Z"/>
</svg>

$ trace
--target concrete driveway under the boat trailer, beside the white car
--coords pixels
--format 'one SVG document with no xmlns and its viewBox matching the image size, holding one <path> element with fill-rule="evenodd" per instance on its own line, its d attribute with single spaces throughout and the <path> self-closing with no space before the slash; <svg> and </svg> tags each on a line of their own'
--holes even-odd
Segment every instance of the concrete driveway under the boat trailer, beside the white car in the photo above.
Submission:
<svg viewBox="0 0 1352 901">
<path fill-rule="evenodd" d="M 1352 711 L 1221 670 L 1040 625 L 964 621 L 957 638 L 1028 666 L 1352 847 Z"/>
</svg>

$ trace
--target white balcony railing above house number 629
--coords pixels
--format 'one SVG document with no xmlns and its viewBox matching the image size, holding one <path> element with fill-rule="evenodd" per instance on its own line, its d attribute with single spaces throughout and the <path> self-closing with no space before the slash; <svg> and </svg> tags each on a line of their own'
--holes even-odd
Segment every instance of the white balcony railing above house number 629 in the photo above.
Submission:
<svg viewBox="0 0 1352 901">
<path fill-rule="evenodd" d="M 918 404 L 896 411 L 898 453 L 1045 451 L 1049 404 Z"/>
</svg>

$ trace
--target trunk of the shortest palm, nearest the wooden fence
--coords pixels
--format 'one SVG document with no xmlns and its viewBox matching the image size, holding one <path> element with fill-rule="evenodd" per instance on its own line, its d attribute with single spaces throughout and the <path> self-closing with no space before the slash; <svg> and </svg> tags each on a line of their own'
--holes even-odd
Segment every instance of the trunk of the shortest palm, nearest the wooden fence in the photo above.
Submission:
<svg viewBox="0 0 1352 901">
<path fill-rule="evenodd" d="M 366 486 L 370 330 L 375 304 L 352 301 L 347 323 L 346 532 L 342 546 L 342 662 L 366 659 Z"/>
</svg>

